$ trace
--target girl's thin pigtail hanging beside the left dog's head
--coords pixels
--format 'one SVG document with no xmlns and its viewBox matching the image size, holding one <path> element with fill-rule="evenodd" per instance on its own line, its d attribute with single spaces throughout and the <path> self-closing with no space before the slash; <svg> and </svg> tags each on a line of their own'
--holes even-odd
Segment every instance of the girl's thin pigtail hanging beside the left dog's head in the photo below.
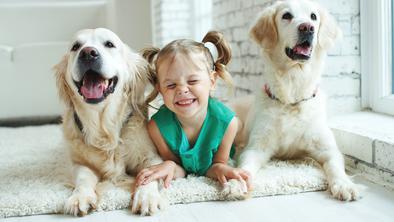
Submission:
<svg viewBox="0 0 394 222">
<path fill-rule="evenodd" d="M 147 99 L 145 100 L 145 103 L 148 104 L 152 102 L 157 95 L 159 95 L 159 91 L 157 90 L 157 73 L 156 73 L 156 58 L 157 55 L 159 54 L 160 49 L 156 47 L 150 47 L 150 48 L 145 48 L 142 50 L 142 57 L 146 59 L 149 63 L 149 82 L 153 86 L 152 92 L 148 95 Z"/>
</svg>

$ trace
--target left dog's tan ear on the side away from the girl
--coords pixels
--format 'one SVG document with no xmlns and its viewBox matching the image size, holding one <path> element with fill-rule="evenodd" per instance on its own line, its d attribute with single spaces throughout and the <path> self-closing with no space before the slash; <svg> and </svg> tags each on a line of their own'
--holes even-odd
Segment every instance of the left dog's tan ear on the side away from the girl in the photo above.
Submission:
<svg viewBox="0 0 394 222">
<path fill-rule="evenodd" d="M 53 67 L 55 70 L 56 85 L 60 99 L 65 103 L 67 107 L 71 107 L 71 89 L 66 81 L 67 65 L 68 65 L 68 54 L 64 55 L 62 60 Z"/>
</svg>

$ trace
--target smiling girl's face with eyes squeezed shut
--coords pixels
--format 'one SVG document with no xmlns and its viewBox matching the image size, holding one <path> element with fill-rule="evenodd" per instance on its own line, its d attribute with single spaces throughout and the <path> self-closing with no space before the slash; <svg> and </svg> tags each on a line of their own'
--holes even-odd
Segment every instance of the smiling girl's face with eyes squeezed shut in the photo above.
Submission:
<svg viewBox="0 0 394 222">
<path fill-rule="evenodd" d="M 178 117 L 192 118 L 206 112 L 216 76 L 208 71 L 202 53 L 170 56 L 160 62 L 157 73 L 164 104 Z"/>
</svg>

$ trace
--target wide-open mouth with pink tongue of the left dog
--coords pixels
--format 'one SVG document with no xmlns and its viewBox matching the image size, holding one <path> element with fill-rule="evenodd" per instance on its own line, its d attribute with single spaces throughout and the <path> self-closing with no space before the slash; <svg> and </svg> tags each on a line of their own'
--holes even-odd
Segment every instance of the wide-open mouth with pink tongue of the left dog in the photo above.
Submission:
<svg viewBox="0 0 394 222">
<path fill-rule="evenodd" d="M 115 76 L 111 79 L 105 79 L 100 73 L 88 70 L 81 81 L 74 81 L 74 83 L 85 102 L 96 104 L 114 92 L 118 83 L 118 77 Z"/>
</svg>

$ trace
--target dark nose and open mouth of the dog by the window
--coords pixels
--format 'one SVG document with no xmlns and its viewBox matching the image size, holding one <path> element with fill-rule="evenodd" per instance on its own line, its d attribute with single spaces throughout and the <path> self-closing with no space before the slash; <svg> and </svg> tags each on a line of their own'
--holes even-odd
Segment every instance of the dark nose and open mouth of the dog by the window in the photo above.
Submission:
<svg viewBox="0 0 394 222">
<path fill-rule="evenodd" d="M 291 60 L 305 61 L 311 57 L 312 42 L 315 28 L 309 23 L 303 23 L 298 27 L 298 41 L 293 47 L 286 47 L 285 53 Z"/>
</svg>

